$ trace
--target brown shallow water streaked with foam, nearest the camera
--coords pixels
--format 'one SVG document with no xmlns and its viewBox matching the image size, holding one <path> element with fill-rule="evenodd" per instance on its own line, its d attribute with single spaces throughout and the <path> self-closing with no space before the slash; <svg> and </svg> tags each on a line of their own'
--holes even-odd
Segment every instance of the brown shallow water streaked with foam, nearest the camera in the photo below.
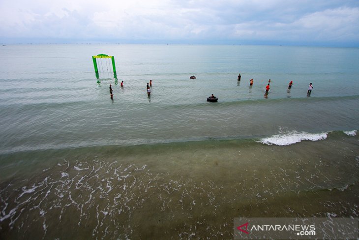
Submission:
<svg viewBox="0 0 359 240">
<path fill-rule="evenodd" d="M 9 154 L 1 161 L 18 172 L 1 183 L 1 235 L 231 238 L 237 216 L 358 216 L 358 145 L 337 132 L 289 146 L 209 140 Z M 36 174 L 11 161 L 24 156 Z"/>
</svg>

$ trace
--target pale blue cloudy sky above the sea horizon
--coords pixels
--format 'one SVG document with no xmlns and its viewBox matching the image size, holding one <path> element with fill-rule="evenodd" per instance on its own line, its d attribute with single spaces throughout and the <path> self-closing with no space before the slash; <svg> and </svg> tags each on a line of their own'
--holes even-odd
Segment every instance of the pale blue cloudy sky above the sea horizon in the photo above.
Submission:
<svg viewBox="0 0 359 240">
<path fill-rule="evenodd" d="M 0 43 L 359 47 L 359 0 L 0 0 Z"/>
</svg>

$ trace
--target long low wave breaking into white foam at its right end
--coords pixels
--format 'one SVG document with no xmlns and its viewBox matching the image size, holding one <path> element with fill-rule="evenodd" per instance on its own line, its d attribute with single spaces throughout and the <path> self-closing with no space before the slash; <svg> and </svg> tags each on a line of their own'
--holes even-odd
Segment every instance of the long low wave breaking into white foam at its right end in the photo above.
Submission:
<svg viewBox="0 0 359 240">
<path fill-rule="evenodd" d="M 18 145 L 15 147 L 8 147 L 0 149 L 1 155 L 11 154 L 15 152 L 35 152 L 44 150 L 60 150 L 60 149 L 81 149 L 81 148 L 92 148 L 92 147 L 136 147 L 136 146 L 154 146 L 167 144 L 265 144 L 265 145 L 277 145 L 277 146 L 288 146 L 301 141 L 319 141 L 326 140 L 327 138 L 342 139 L 344 135 L 349 137 L 356 137 L 358 130 L 352 131 L 341 131 L 333 130 L 322 133 L 307 133 L 298 131 L 287 131 L 278 133 L 269 137 L 259 136 L 227 136 L 227 137 L 183 137 L 183 138 L 170 138 L 170 139 L 125 139 L 125 140 L 114 140 L 114 139 L 102 139 L 100 141 L 81 140 L 65 143 L 43 143 L 36 144 L 33 146 Z"/>
</svg>

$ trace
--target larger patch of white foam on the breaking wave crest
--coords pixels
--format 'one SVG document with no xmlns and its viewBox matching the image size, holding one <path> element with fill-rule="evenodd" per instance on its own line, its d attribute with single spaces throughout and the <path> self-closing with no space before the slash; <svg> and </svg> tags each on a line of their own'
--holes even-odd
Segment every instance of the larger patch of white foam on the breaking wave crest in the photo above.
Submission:
<svg viewBox="0 0 359 240">
<path fill-rule="evenodd" d="M 259 142 L 267 145 L 278 145 L 278 146 L 286 146 L 291 145 L 297 142 L 301 142 L 303 140 L 309 141 L 318 141 L 324 140 L 328 137 L 328 133 L 320 133 L 320 134 L 310 134 L 306 132 L 297 132 L 292 131 L 282 135 L 274 135 L 271 137 L 262 138 Z"/>
</svg>

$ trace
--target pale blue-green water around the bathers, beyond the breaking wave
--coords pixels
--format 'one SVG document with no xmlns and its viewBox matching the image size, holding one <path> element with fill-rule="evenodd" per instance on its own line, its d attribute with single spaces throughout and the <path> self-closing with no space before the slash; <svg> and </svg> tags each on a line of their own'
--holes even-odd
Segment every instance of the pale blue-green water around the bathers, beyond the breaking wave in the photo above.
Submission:
<svg viewBox="0 0 359 240">
<path fill-rule="evenodd" d="M 98 53 L 115 56 L 118 79 L 105 70 L 97 83 Z M 68 44 L 0 54 L 1 152 L 358 129 L 357 48 Z M 206 102 L 212 93 L 218 103 Z"/>
</svg>

